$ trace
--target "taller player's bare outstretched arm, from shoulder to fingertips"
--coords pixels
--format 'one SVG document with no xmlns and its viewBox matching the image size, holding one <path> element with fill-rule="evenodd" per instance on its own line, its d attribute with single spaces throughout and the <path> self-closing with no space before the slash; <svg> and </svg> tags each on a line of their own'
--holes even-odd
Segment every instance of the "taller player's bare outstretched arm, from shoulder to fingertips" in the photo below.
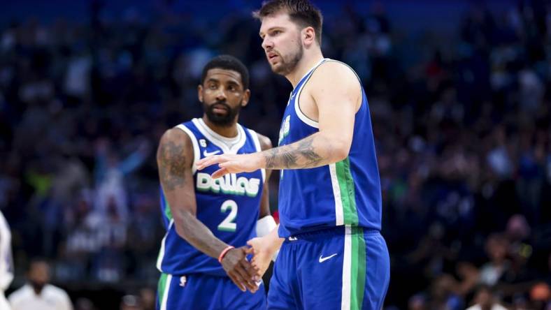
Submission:
<svg viewBox="0 0 551 310">
<path fill-rule="evenodd" d="M 292 144 L 259 153 L 203 158 L 197 168 L 218 163 L 220 170 L 213 173 L 213 177 L 220 177 L 259 168 L 315 168 L 342 161 L 350 152 L 355 114 L 362 103 L 359 81 L 350 68 L 328 61 L 317 68 L 307 86 L 301 94 L 301 102 L 309 101 L 315 107 L 313 111 L 317 115 L 311 116 L 317 119 L 320 131 Z"/>
</svg>

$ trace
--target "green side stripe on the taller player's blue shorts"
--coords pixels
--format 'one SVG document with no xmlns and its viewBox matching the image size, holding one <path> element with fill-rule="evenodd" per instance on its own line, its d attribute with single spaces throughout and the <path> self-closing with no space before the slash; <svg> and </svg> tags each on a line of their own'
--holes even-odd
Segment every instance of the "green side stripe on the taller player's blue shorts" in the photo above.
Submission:
<svg viewBox="0 0 551 310">
<path fill-rule="evenodd" d="M 350 309 L 362 309 L 366 284 L 366 241 L 362 228 L 352 226 L 351 230 Z"/>
</svg>

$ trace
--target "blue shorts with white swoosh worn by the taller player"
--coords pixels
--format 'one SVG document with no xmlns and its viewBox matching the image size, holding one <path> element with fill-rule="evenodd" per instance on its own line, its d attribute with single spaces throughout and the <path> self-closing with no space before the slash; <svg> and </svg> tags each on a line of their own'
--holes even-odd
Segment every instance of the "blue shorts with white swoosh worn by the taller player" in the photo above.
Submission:
<svg viewBox="0 0 551 310">
<path fill-rule="evenodd" d="M 389 265 L 376 230 L 337 226 L 289 237 L 273 267 L 268 309 L 380 310 Z"/>
</svg>

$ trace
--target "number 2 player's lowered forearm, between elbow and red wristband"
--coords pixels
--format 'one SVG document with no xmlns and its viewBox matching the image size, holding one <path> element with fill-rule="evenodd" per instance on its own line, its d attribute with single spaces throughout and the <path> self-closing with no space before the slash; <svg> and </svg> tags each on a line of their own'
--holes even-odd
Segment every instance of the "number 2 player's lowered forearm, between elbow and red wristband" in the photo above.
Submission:
<svg viewBox="0 0 551 310">
<path fill-rule="evenodd" d="M 201 223 L 195 216 L 185 210 L 179 212 L 178 221 L 175 221 L 176 232 L 194 248 L 212 258 L 218 258 L 228 244 L 215 237 L 212 231 Z"/>
</svg>

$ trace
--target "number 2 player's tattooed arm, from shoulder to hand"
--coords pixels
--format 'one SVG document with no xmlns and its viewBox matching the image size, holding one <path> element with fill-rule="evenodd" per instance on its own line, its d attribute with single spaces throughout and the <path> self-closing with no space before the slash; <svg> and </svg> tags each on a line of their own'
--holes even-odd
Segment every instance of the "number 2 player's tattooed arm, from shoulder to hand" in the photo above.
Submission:
<svg viewBox="0 0 551 310">
<path fill-rule="evenodd" d="M 196 218 L 193 158 L 192 142 L 187 134 L 178 128 L 164 133 L 157 149 L 157 165 L 176 232 L 199 251 L 217 259 L 228 244 L 215 237 Z M 245 258 L 248 253 L 250 251 L 245 247 L 231 249 L 222 259 L 222 267 L 241 290 L 246 287 L 255 291 L 257 286 L 252 279 L 255 272 Z"/>
</svg>

